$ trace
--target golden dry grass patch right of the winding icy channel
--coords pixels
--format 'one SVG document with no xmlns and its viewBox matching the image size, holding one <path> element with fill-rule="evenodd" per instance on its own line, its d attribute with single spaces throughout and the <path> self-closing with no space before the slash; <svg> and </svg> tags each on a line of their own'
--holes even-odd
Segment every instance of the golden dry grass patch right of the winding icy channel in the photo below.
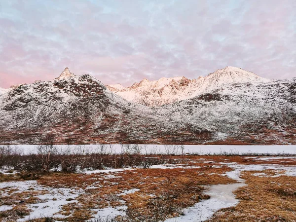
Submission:
<svg viewBox="0 0 296 222">
<path fill-rule="evenodd" d="M 266 175 L 254 176 L 255 173 Z M 244 172 L 242 178 L 248 186 L 235 191 L 239 204 L 218 211 L 209 222 L 295 222 L 296 177 L 270 177 L 277 173 L 280 172 Z"/>
</svg>

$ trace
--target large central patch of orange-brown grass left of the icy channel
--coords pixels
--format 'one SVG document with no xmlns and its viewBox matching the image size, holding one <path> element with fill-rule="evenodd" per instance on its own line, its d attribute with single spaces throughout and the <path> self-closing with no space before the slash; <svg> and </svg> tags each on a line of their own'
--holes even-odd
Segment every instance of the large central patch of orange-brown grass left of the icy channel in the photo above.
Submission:
<svg viewBox="0 0 296 222">
<path fill-rule="evenodd" d="M 201 199 L 209 198 L 202 192 L 202 185 L 235 183 L 221 176 L 231 168 L 134 169 L 116 173 L 99 174 L 51 174 L 42 176 L 38 183 L 53 187 L 86 188 L 75 200 L 62 207 L 59 214 L 89 220 L 91 209 L 128 206 L 129 220 L 158 221 L 182 214 L 182 210 Z M 139 189 L 124 195 L 124 191 Z M 161 207 L 160 207 L 161 206 Z M 67 220 L 68 220 L 67 219 Z"/>
</svg>

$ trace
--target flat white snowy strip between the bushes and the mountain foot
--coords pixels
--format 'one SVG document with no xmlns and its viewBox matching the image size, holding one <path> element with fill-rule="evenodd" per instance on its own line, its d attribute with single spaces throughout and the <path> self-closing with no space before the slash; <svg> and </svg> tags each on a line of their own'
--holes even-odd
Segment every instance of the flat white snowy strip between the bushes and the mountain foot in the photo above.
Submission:
<svg viewBox="0 0 296 222">
<path fill-rule="evenodd" d="M 123 145 L 126 146 L 126 145 Z M 130 145 L 132 147 L 133 145 Z M 24 154 L 35 153 L 37 146 L 35 145 L 13 145 L 11 148 L 17 148 L 22 150 Z M 100 145 L 56 145 L 58 150 L 84 150 L 85 153 L 96 152 L 100 149 Z M 119 144 L 106 145 L 107 153 L 122 152 L 122 147 Z M 142 154 L 181 154 L 180 145 L 139 145 L 139 149 Z M 282 154 L 296 154 L 296 145 L 288 146 L 221 146 L 221 145 L 184 145 L 184 152 L 188 154 L 270 154 L 270 155 L 282 155 Z"/>
</svg>

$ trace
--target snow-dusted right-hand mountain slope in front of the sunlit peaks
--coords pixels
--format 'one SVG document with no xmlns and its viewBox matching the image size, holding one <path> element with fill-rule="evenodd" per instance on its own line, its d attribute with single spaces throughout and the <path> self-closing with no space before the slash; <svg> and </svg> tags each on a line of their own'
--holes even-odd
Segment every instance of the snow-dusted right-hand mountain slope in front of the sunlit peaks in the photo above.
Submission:
<svg viewBox="0 0 296 222">
<path fill-rule="evenodd" d="M 234 83 L 153 108 L 168 121 L 212 132 L 214 144 L 295 144 L 296 81 Z"/>
</svg>

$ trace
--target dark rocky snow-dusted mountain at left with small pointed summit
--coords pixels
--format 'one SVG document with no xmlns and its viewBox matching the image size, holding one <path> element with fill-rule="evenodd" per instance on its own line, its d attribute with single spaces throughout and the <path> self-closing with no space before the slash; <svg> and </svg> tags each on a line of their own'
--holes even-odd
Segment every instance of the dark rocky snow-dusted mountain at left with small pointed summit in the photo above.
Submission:
<svg viewBox="0 0 296 222">
<path fill-rule="evenodd" d="M 52 81 L 0 95 L 0 142 L 37 144 L 51 134 L 63 144 L 158 143 L 179 128 L 177 123 L 163 128 L 165 120 L 153 112 L 112 93 L 95 77 L 66 68 Z"/>
</svg>

